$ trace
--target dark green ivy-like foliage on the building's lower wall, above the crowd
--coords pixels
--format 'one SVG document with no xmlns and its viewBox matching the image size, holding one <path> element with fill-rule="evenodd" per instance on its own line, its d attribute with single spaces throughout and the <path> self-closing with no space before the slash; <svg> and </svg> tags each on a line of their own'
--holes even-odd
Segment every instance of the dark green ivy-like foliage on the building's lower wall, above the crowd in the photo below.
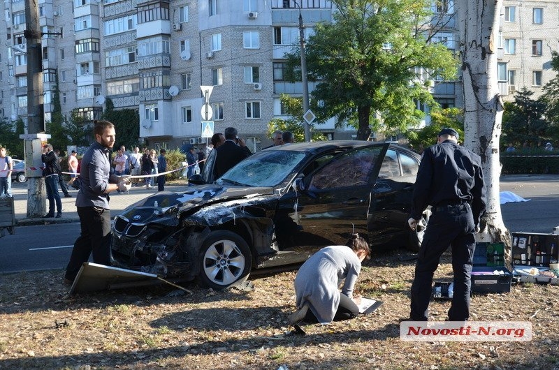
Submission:
<svg viewBox="0 0 559 370">
<path fill-rule="evenodd" d="M 115 148 L 124 145 L 126 148 L 139 146 L 140 138 L 140 115 L 138 110 L 121 109 L 115 110 L 112 100 L 107 98 L 106 109 L 103 112 L 103 119 L 111 121 L 115 125 L 117 142 Z"/>
</svg>

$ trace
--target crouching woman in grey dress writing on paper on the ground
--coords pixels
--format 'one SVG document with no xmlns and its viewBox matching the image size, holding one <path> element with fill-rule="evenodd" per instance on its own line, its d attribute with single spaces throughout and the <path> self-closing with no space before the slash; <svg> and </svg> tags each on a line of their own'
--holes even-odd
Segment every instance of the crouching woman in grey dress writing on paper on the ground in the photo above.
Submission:
<svg viewBox="0 0 559 370">
<path fill-rule="evenodd" d="M 289 315 L 289 323 L 328 324 L 356 317 L 361 297 L 353 297 L 354 286 L 361 262 L 369 255 L 368 242 L 357 234 L 344 246 L 326 246 L 314 253 L 295 278 L 297 310 Z"/>
</svg>

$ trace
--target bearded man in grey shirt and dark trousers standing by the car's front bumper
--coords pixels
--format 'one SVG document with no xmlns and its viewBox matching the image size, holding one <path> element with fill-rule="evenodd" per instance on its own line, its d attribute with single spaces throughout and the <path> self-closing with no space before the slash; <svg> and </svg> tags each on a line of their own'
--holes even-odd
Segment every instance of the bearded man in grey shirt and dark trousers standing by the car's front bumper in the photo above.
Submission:
<svg viewBox="0 0 559 370">
<path fill-rule="evenodd" d="M 80 236 L 75 240 L 66 266 L 65 283 L 71 284 L 80 267 L 93 254 L 93 262 L 110 266 L 109 193 L 122 190 L 129 177 L 111 172 L 110 150 L 115 145 L 115 126 L 94 121 L 95 141 L 82 157 L 80 190 L 75 199 L 80 217 Z"/>
</svg>

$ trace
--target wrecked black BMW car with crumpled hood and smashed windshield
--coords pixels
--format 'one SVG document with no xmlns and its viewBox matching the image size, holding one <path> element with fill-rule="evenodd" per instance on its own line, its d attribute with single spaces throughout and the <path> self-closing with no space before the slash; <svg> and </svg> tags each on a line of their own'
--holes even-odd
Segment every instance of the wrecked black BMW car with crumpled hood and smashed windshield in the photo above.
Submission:
<svg viewBox="0 0 559 370">
<path fill-rule="evenodd" d="M 125 209 L 112 226 L 112 263 L 219 289 L 252 269 L 300 264 L 351 232 L 373 251 L 417 250 L 428 212 L 416 232 L 407 219 L 419 160 L 397 145 L 365 141 L 259 151 L 213 184 Z"/>
</svg>

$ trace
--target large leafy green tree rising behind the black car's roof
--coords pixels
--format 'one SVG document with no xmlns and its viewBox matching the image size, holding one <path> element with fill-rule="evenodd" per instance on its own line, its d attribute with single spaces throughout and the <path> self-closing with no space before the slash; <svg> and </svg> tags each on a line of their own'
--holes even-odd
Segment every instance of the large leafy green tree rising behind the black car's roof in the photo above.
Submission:
<svg viewBox="0 0 559 370">
<path fill-rule="evenodd" d="M 416 68 L 426 68 L 444 79 L 456 76 L 457 60 L 445 45 L 431 43 L 437 19 L 429 0 L 333 0 L 339 11 L 333 23 L 317 24 L 307 41 L 312 109 L 338 123 L 355 122 L 357 138 L 369 137 L 381 123 L 406 131 L 423 112 L 416 102 L 435 105 L 429 86 L 417 82 Z M 440 19 L 438 19 L 440 20 Z M 299 53 L 289 54 L 298 66 Z M 415 82 L 414 82 L 415 81 Z"/>
</svg>

